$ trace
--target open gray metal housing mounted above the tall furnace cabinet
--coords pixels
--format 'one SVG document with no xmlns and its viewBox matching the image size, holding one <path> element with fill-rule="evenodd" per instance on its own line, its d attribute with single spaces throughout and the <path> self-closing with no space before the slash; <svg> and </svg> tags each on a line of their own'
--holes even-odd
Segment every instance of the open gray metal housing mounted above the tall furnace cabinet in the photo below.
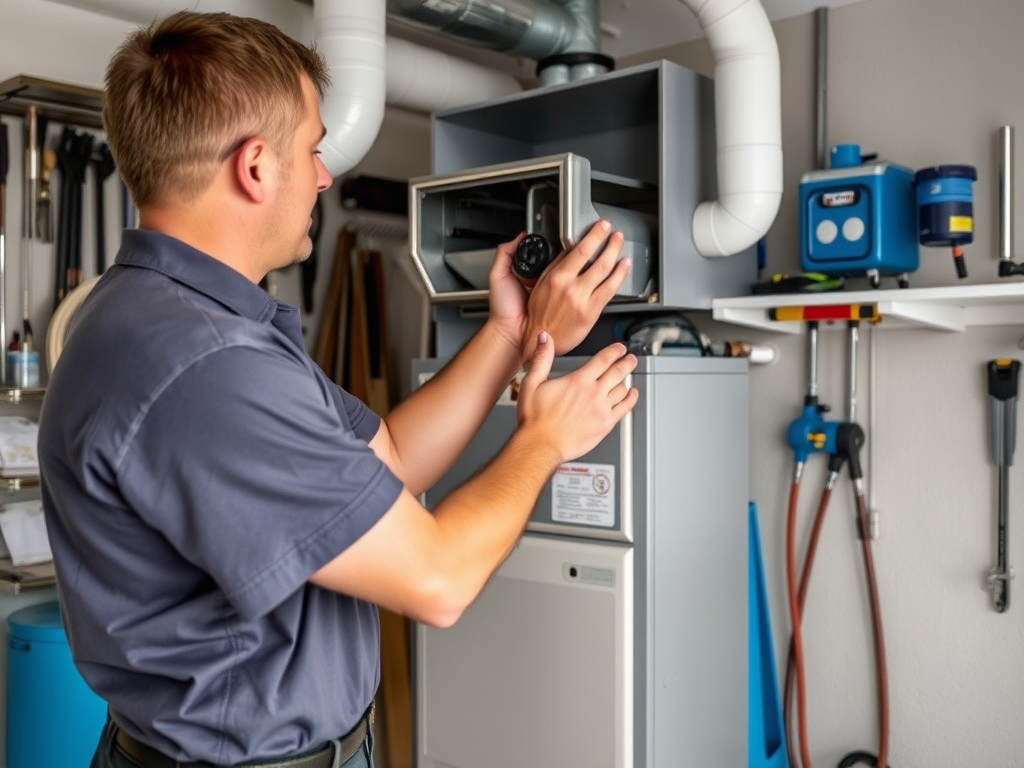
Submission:
<svg viewBox="0 0 1024 768">
<path fill-rule="evenodd" d="M 534 185 L 515 193 L 522 176 L 553 176 L 553 197 L 575 195 L 565 188 L 564 172 L 535 167 L 565 154 L 586 160 L 589 180 L 582 183 L 589 184 L 585 191 L 595 205 L 654 222 L 650 285 L 640 295 L 616 298 L 613 311 L 708 309 L 717 297 L 748 293 L 757 280 L 754 247 L 710 258 L 693 242 L 694 210 L 718 195 L 716 150 L 712 81 L 666 60 L 435 113 L 431 176 L 410 185 L 412 249 L 431 299 L 486 301 L 485 282 L 460 281 L 453 259 L 469 255 L 462 248 L 482 254 L 477 270 L 485 275 L 495 246 L 534 231 Z M 517 165 L 526 170 L 517 174 Z M 507 183 L 480 177 L 481 168 L 495 166 Z M 445 217 L 446 210 L 465 214 L 465 221 Z M 560 210 L 563 219 L 567 215 Z"/>
</svg>

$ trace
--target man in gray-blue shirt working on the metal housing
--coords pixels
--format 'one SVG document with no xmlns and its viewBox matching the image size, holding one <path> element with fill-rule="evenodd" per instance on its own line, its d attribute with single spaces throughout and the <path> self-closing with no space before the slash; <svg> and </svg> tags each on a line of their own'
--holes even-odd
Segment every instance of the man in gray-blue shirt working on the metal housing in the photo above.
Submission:
<svg viewBox="0 0 1024 768">
<path fill-rule="evenodd" d="M 326 87 L 314 51 L 226 14 L 174 14 L 109 67 L 139 228 L 76 315 L 39 444 L 65 625 L 110 703 L 95 768 L 372 765 L 375 605 L 455 622 L 549 475 L 636 403 L 620 344 L 547 378 L 629 268 L 603 222 L 529 293 L 500 246 L 487 321 L 386 419 L 316 369 L 258 283 L 310 252 Z M 525 361 L 507 445 L 425 510 Z"/>
</svg>

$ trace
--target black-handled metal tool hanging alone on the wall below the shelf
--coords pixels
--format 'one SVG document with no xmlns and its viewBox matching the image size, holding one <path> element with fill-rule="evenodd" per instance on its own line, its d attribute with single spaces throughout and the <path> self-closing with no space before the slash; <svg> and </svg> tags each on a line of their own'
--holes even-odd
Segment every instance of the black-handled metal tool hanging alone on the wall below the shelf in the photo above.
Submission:
<svg viewBox="0 0 1024 768">
<path fill-rule="evenodd" d="M 1010 467 L 1014 464 L 1017 441 L 1017 389 L 1019 360 L 994 359 L 988 372 L 988 421 L 992 462 L 999 470 L 998 510 L 995 538 L 995 567 L 989 571 L 988 588 L 992 607 L 999 613 L 1010 607 L 1010 580 L 1014 570 L 1007 564 L 1008 512 L 1010 506 Z"/>
</svg>

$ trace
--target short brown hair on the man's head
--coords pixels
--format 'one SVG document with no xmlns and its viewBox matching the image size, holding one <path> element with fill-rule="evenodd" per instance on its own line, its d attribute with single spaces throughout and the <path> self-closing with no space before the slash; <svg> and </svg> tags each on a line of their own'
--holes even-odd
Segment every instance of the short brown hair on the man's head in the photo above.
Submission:
<svg viewBox="0 0 1024 768">
<path fill-rule="evenodd" d="M 287 150 L 303 74 L 323 98 L 321 54 L 256 18 L 181 11 L 130 35 L 106 68 L 103 126 L 135 205 L 195 198 L 251 136 Z"/>
</svg>

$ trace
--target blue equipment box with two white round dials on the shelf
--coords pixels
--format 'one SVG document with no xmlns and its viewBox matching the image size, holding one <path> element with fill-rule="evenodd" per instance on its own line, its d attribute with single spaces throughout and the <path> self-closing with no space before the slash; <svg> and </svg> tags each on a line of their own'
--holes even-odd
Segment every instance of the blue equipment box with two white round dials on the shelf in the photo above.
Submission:
<svg viewBox="0 0 1024 768">
<path fill-rule="evenodd" d="M 920 264 L 913 173 L 886 162 L 805 173 L 800 182 L 804 271 L 902 279 Z"/>
</svg>

